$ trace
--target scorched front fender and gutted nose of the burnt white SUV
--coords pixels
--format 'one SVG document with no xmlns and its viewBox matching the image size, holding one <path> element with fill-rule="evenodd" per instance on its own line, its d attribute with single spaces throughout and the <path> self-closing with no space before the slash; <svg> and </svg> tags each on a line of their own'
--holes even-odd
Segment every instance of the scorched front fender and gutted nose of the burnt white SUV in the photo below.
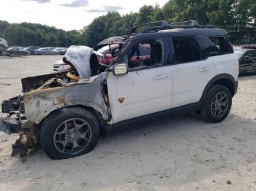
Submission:
<svg viewBox="0 0 256 191">
<path fill-rule="evenodd" d="M 1 111 L 8 116 L 0 119 L 0 130 L 7 134 L 18 133 L 12 145 L 12 156 L 26 158 L 37 145 L 40 125 L 58 109 L 81 106 L 94 109 L 103 122 L 110 120 L 106 102 L 105 79 L 101 73 L 89 79 L 70 80 L 67 74 L 48 74 L 22 79 L 23 95 L 3 101 Z"/>
</svg>

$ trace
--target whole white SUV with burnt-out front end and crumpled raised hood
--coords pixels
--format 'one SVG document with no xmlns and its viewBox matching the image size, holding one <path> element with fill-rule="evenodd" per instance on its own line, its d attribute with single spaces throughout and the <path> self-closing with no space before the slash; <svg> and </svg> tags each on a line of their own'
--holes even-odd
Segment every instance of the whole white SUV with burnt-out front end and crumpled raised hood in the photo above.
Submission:
<svg viewBox="0 0 256 191">
<path fill-rule="evenodd" d="M 90 47 L 72 46 L 63 58 L 69 71 L 21 80 L 23 95 L 1 104 L 10 114 L 0 120 L 1 130 L 20 135 L 12 156 L 38 144 L 52 159 L 77 157 L 119 125 L 178 111 L 197 112 L 208 122 L 229 114 L 238 57 L 225 30 L 195 20 L 159 21 L 99 47 L 111 44 L 120 50 L 109 66 L 100 65 Z M 150 47 L 147 59 L 140 59 L 143 44 Z"/>
</svg>

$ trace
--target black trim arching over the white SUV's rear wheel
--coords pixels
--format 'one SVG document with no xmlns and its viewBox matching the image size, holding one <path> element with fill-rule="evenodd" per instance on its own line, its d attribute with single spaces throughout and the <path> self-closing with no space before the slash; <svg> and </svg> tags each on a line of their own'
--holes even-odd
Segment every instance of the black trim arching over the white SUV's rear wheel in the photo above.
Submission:
<svg viewBox="0 0 256 191">
<path fill-rule="evenodd" d="M 208 84 L 206 85 L 205 89 L 203 90 L 203 94 L 200 98 L 200 101 L 203 101 L 203 98 L 205 98 L 206 96 L 206 93 L 208 92 L 208 90 L 210 89 L 211 85 L 214 84 L 214 82 L 217 82 L 218 80 L 220 79 L 227 79 L 229 80 L 230 82 L 232 82 L 233 84 L 233 87 L 234 87 L 234 90 L 232 92 L 232 95 L 235 95 L 236 94 L 236 91 L 237 91 L 237 88 L 238 88 L 238 82 L 236 81 L 236 79 L 231 76 L 230 74 L 218 74 L 217 76 L 213 77 L 209 82 Z"/>
</svg>

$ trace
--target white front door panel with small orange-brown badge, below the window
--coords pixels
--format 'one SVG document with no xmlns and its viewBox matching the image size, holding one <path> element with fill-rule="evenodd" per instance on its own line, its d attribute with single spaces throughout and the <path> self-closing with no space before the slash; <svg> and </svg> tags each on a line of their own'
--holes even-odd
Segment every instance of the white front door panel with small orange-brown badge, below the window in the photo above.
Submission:
<svg viewBox="0 0 256 191">
<path fill-rule="evenodd" d="M 113 122 L 151 114 L 172 106 L 173 66 L 128 74 L 108 75 L 108 95 Z M 121 104 L 118 98 L 124 98 Z"/>
</svg>

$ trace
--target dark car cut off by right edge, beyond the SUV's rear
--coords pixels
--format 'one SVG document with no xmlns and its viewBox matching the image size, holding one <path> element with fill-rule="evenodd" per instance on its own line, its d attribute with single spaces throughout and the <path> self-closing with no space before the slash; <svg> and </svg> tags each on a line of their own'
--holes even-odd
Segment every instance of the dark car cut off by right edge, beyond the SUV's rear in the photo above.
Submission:
<svg viewBox="0 0 256 191">
<path fill-rule="evenodd" d="M 235 49 L 239 57 L 239 74 L 256 74 L 256 50 Z"/>
</svg>

